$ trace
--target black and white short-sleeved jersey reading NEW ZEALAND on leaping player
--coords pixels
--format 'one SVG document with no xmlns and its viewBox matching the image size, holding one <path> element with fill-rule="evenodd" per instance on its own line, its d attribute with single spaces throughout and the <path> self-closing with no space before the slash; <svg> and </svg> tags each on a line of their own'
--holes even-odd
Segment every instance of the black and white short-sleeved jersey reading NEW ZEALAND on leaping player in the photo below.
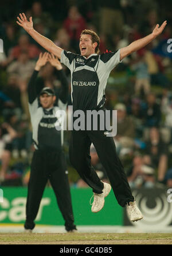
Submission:
<svg viewBox="0 0 172 256">
<path fill-rule="evenodd" d="M 61 52 L 61 63 L 71 70 L 73 111 L 97 110 L 104 106 L 108 77 L 119 62 L 120 50 L 92 54 L 88 58 L 69 51 Z"/>
</svg>

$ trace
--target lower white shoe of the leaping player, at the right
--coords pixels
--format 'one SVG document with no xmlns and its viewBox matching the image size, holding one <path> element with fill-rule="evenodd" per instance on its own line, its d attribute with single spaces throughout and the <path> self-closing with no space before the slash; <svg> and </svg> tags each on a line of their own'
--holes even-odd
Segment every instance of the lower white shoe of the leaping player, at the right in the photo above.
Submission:
<svg viewBox="0 0 172 256">
<path fill-rule="evenodd" d="M 130 216 L 130 221 L 132 222 L 143 219 L 143 215 L 140 212 L 135 201 L 130 202 L 129 205 L 127 205 L 127 213 L 128 213 L 128 216 Z"/>
</svg>

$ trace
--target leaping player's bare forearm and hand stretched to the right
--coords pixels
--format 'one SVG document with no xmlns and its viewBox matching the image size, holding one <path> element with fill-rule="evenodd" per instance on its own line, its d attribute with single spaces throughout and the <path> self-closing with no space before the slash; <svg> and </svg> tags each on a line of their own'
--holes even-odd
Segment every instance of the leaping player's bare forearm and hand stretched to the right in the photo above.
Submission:
<svg viewBox="0 0 172 256">
<path fill-rule="evenodd" d="M 146 46 L 148 43 L 153 41 L 155 37 L 159 36 L 163 29 L 166 27 L 167 21 L 164 21 L 161 27 L 159 28 L 159 24 L 154 28 L 153 32 L 143 37 L 142 39 L 136 40 L 135 42 L 131 43 L 129 46 L 121 48 L 120 49 L 120 61 L 122 61 L 123 58 L 127 57 L 134 51 L 138 51 L 139 49 Z"/>
</svg>

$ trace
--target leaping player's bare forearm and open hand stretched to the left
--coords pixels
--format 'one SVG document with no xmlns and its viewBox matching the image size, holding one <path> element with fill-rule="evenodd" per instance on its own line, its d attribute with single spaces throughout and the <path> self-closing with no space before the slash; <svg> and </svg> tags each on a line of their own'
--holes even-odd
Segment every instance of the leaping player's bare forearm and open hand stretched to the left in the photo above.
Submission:
<svg viewBox="0 0 172 256">
<path fill-rule="evenodd" d="M 24 28 L 25 31 L 28 32 L 29 35 L 32 36 L 38 44 L 44 47 L 47 51 L 52 52 L 52 54 L 56 55 L 60 59 L 62 48 L 56 46 L 56 44 L 54 44 L 50 39 L 48 39 L 45 36 L 42 36 L 33 28 L 32 17 L 30 17 L 28 21 L 25 16 L 25 13 L 20 13 L 17 19 L 17 24 Z"/>
</svg>

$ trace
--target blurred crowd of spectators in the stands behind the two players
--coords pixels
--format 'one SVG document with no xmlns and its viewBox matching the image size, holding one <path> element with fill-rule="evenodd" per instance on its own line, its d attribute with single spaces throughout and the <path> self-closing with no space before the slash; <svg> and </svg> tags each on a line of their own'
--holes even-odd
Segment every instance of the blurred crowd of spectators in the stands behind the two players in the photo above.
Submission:
<svg viewBox="0 0 172 256">
<path fill-rule="evenodd" d="M 19 12 L 33 17 L 36 31 L 65 50 L 79 52 L 83 29 L 100 36 L 100 52 L 116 51 L 153 31 L 167 20 L 165 31 L 147 47 L 123 60 L 107 85 L 108 110 L 118 110 L 116 150 L 132 188 L 172 187 L 172 93 L 170 0 L 65 0 L 10 1 L 2 3 L 0 37 L 0 184 L 26 186 L 33 154 L 32 127 L 27 86 L 40 52 L 44 52 L 16 24 Z M 64 67 L 70 83 L 69 70 Z M 47 63 L 40 71 L 45 86 L 59 87 L 54 68 Z M 69 105 L 71 97 L 69 92 Z M 68 161 L 70 133 L 65 132 Z M 53 139 L 53 138 L 52 138 Z M 96 150 L 91 146 L 92 165 L 107 179 Z M 68 161 L 71 186 L 87 186 Z"/>
</svg>

